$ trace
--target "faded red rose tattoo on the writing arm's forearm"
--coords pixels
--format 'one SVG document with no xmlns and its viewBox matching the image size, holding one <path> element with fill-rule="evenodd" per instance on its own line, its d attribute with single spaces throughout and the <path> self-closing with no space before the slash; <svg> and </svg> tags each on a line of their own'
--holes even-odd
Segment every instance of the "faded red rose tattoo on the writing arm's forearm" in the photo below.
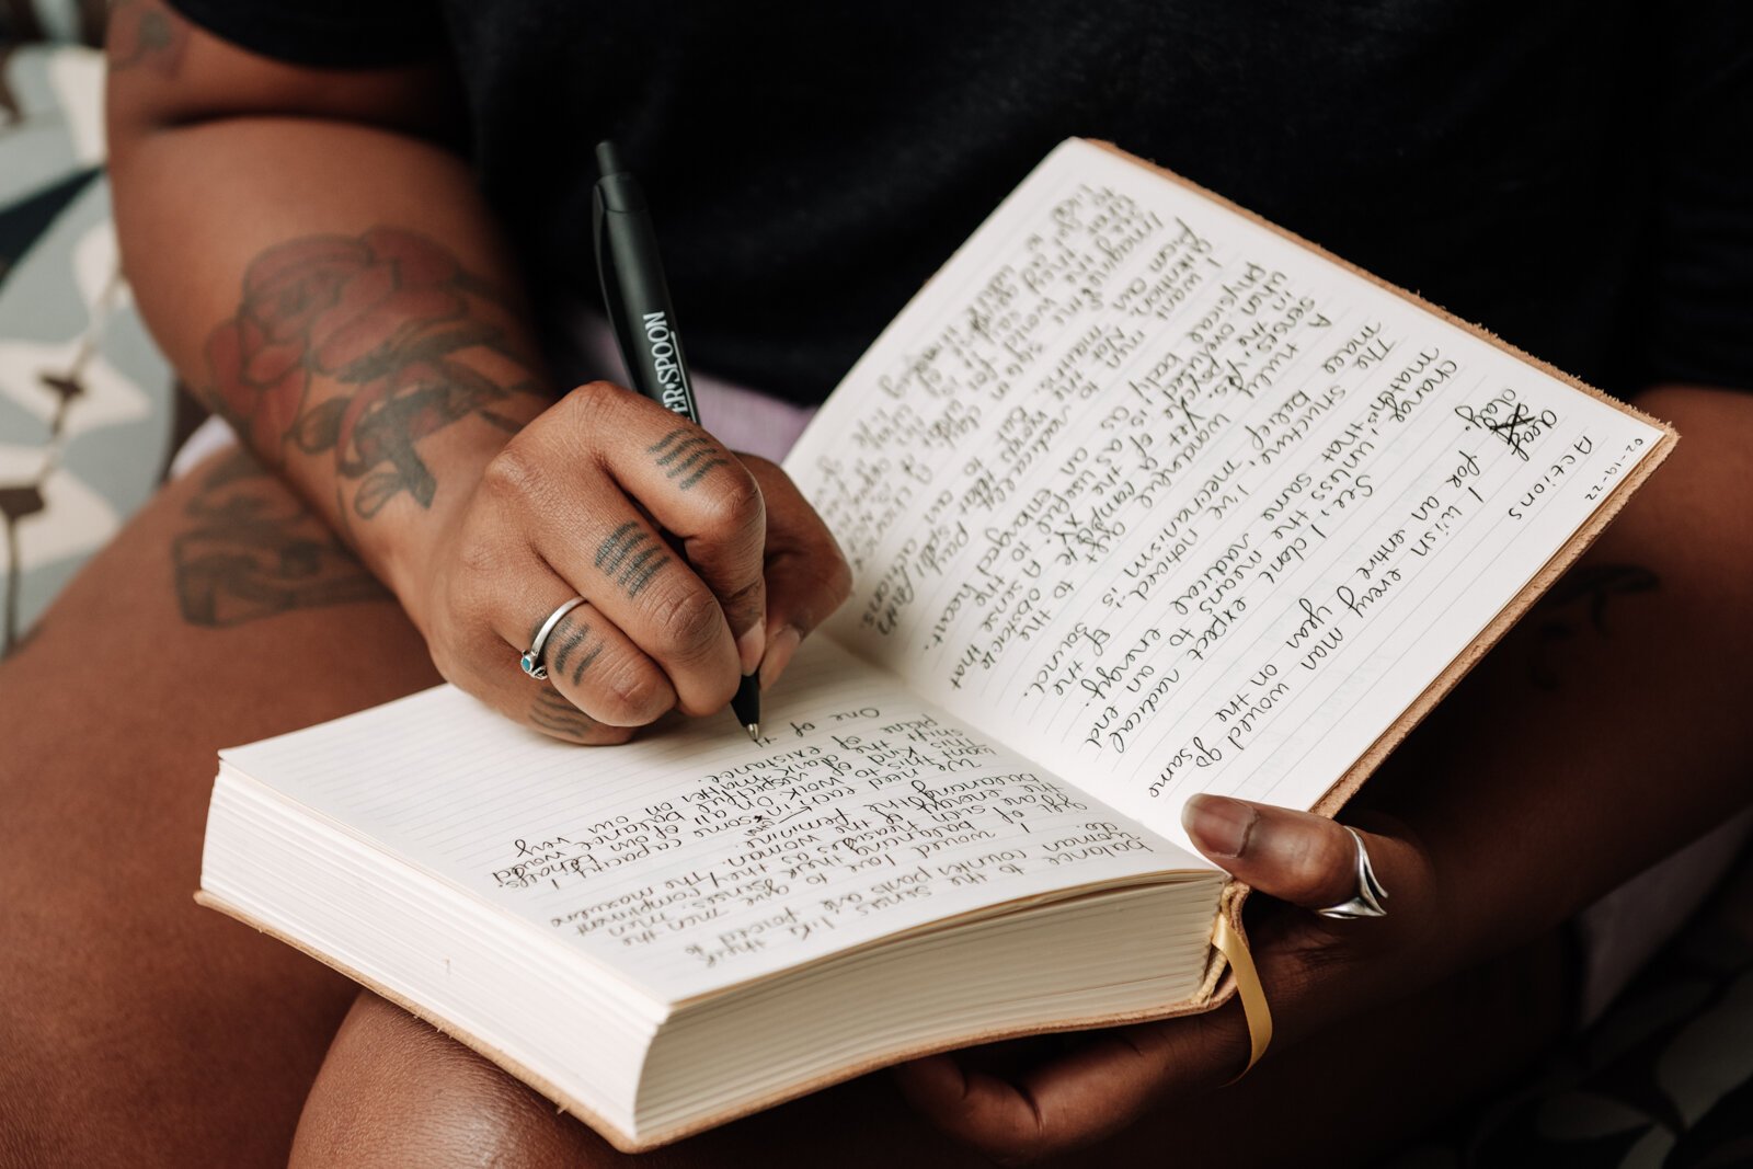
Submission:
<svg viewBox="0 0 1753 1169">
<path fill-rule="evenodd" d="M 207 338 L 209 400 L 270 463 L 331 456 L 359 519 L 401 494 L 429 508 L 438 484 L 422 438 L 470 417 L 517 431 L 496 407 L 545 394 L 510 321 L 422 235 L 291 240 L 249 265 L 237 315 Z"/>
</svg>

